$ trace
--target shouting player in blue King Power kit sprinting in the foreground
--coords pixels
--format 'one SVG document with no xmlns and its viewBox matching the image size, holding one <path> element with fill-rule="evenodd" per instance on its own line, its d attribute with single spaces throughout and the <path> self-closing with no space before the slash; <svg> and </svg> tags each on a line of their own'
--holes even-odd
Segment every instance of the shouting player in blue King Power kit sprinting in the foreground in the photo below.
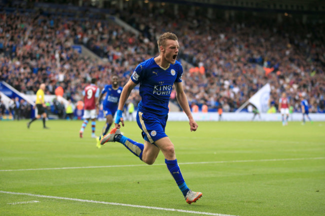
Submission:
<svg viewBox="0 0 325 216">
<path fill-rule="evenodd" d="M 189 119 L 190 130 L 195 131 L 198 125 L 192 117 L 181 83 L 183 69 L 176 61 L 179 49 L 178 38 L 173 33 L 165 32 L 160 35 L 157 43 L 159 55 L 138 64 L 131 78 L 124 85 L 116 112 L 115 128 L 112 128 L 106 136 L 100 137 L 100 144 L 109 141 L 120 142 L 147 164 L 153 164 L 161 150 L 169 172 L 186 202 L 190 204 L 197 201 L 202 193 L 194 192 L 187 187 L 177 163 L 174 145 L 165 134 L 168 102 L 173 85 L 175 85 L 178 103 Z M 119 122 L 124 126 L 122 110 L 125 101 L 138 83 L 142 100 L 138 104 L 136 121 L 142 130 L 144 144 L 122 135 L 119 130 Z"/>
</svg>

